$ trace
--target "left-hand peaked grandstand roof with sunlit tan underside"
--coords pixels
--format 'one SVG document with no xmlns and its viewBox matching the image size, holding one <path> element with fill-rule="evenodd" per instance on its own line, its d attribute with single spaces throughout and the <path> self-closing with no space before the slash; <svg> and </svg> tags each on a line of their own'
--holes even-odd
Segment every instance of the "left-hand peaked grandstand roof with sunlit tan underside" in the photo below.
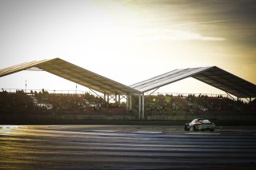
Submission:
<svg viewBox="0 0 256 170">
<path fill-rule="evenodd" d="M 46 59 L 42 61 L 25 62 L 20 65 L 14 65 L 6 69 L 0 69 L 0 77 L 17 73 L 30 68 L 38 68 L 46 72 L 53 73 L 58 77 L 73 81 L 79 85 L 84 85 L 89 89 L 96 90 L 100 93 L 108 94 L 127 94 L 138 93 L 138 90 L 122 85 L 117 81 L 102 77 L 97 73 L 90 72 L 78 65 L 71 64 L 60 58 Z"/>
</svg>

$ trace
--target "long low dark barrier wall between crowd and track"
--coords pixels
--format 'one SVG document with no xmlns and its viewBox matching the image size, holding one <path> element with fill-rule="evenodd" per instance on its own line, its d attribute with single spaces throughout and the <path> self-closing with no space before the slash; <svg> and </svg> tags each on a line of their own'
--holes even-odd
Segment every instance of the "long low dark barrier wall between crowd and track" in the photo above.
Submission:
<svg viewBox="0 0 256 170">
<path fill-rule="evenodd" d="M 144 120 L 141 121 L 186 121 L 190 122 L 194 118 L 206 118 L 213 120 L 214 122 L 240 122 L 240 123 L 250 123 L 254 125 L 256 122 L 256 115 L 151 115 L 146 116 Z M 8 122 L 79 122 L 79 121 L 139 121 L 138 117 L 134 115 L 22 115 L 22 114 L 0 114 L 0 124 L 6 124 Z"/>
</svg>

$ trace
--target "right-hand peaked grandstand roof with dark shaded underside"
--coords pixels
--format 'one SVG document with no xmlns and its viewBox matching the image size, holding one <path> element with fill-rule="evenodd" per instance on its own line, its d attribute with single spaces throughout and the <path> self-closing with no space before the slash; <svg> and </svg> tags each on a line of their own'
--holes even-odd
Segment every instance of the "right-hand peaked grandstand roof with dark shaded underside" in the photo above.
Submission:
<svg viewBox="0 0 256 170">
<path fill-rule="evenodd" d="M 130 87 L 141 92 L 148 92 L 164 85 L 169 85 L 175 81 L 180 81 L 187 77 L 193 77 L 198 81 L 205 82 L 215 88 L 222 89 L 236 97 L 247 98 L 256 97 L 256 85 L 245 81 L 232 73 L 228 73 L 216 66 L 198 67 L 189 69 L 174 69 L 168 73 L 163 73 L 157 77 L 146 81 L 138 82 Z"/>
</svg>

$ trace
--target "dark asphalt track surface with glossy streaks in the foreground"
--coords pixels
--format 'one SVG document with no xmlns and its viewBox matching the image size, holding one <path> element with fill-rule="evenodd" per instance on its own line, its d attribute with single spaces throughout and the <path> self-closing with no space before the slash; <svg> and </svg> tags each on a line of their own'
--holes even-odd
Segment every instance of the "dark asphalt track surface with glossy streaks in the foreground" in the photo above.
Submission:
<svg viewBox="0 0 256 170">
<path fill-rule="evenodd" d="M 256 127 L 0 125 L 0 169 L 255 169 Z"/>
</svg>

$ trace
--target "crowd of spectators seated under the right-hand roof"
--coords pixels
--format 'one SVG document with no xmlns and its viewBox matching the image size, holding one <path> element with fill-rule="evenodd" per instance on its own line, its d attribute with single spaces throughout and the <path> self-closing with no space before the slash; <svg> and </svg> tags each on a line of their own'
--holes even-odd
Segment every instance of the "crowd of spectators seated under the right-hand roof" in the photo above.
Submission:
<svg viewBox="0 0 256 170">
<path fill-rule="evenodd" d="M 171 94 L 157 94 L 145 96 L 145 113 L 152 114 L 256 114 L 255 100 L 245 102 L 230 97 L 173 96 Z M 138 105 L 138 101 L 134 101 Z"/>
</svg>

